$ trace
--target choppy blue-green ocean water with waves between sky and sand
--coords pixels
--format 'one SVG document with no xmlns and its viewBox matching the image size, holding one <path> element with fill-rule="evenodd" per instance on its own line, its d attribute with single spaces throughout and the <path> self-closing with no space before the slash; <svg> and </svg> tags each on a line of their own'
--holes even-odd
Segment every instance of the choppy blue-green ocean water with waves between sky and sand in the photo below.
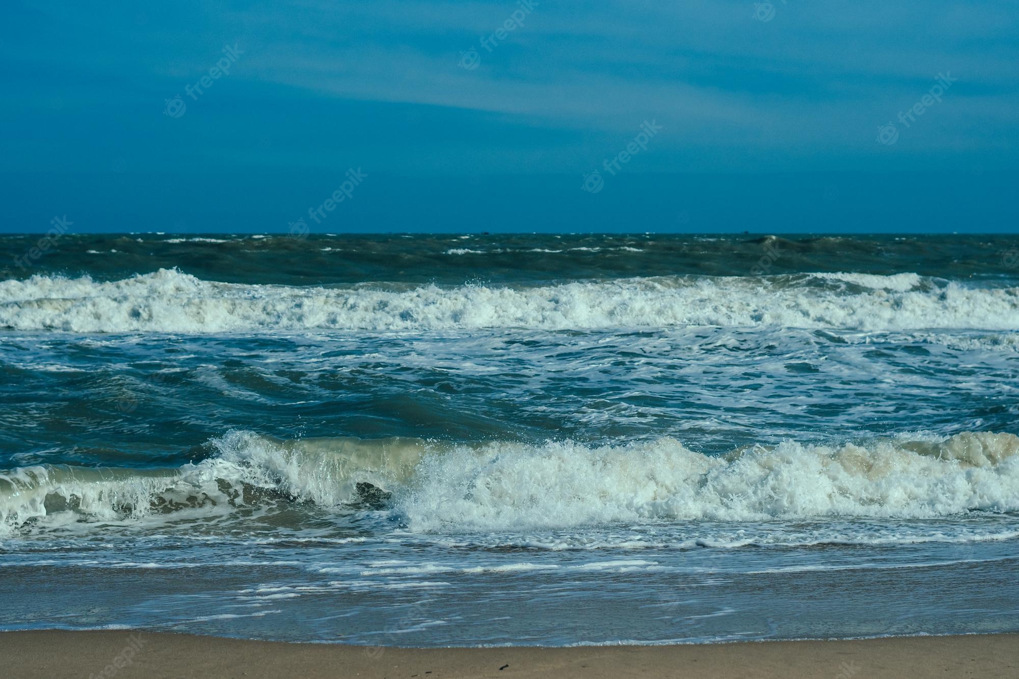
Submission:
<svg viewBox="0 0 1019 679">
<path fill-rule="evenodd" d="M 38 239 L 0 629 L 1019 630 L 1019 238 Z"/>
</svg>

